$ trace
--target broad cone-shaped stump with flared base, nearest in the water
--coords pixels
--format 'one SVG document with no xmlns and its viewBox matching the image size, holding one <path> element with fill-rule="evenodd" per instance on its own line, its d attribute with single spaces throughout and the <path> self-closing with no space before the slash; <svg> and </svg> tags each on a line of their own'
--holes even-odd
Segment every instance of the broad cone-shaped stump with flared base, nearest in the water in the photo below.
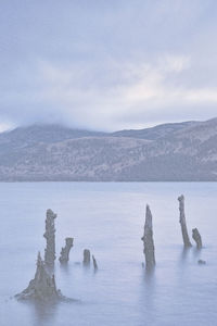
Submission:
<svg viewBox="0 0 217 326">
<path fill-rule="evenodd" d="M 16 294 L 17 300 L 39 300 L 55 301 L 64 299 L 61 291 L 56 289 L 54 275 L 50 275 L 41 260 L 40 252 L 37 259 L 37 269 L 34 279 L 29 281 L 28 287 L 21 293 Z"/>
</svg>

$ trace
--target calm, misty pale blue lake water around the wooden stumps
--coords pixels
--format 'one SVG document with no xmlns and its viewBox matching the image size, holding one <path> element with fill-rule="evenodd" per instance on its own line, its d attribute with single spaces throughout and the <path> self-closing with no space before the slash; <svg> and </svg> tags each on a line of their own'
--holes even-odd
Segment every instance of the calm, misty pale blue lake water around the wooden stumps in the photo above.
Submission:
<svg viewBox="0 0 217 326">
<path fill-rule="evenodd" d="M 177 197 L 186 196 L 189 234 L 203 239 L 183 251 Z M 142 267 L 145 204 L 153 214 L 156 267 Z M 56 259 L 56 285 L 77 302 L 17 302 L 43 254 L 46 210 L 58 213 L 56 255 L 74 237 L 67 267 Z M 1 326 L 217 325 L 217 184 L 0 184 Z M 82 250 L 99 271 L 82 267 Z M 199 265 L 197 260 L 206 261 Z"/>
</svg>

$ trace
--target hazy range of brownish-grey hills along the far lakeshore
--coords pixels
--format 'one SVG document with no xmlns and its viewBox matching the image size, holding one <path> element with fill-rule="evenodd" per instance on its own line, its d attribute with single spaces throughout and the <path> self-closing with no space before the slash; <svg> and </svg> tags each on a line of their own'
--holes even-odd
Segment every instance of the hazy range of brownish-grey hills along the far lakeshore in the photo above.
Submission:
<svg viewBox="0 0 217 326">
<path fill-rule="evenodd" d="M 0 180 L 216 181 L 217 118 L 111 134 L 16 128 L 0 134 Z"/>
</svg>

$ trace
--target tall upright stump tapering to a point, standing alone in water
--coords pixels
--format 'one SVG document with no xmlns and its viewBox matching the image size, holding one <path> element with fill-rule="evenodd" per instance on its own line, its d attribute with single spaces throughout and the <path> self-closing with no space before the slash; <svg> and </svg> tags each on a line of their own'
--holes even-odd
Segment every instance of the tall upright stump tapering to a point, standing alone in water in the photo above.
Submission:
<svg viewBox="0 0 217 326">
<path fill-rule="evenodd" d="M 153 268 L 155 266 L 155 253 L 154 253 L 154 240 L 153 240 L 153 227 L 152 227 L 152 213 L 150 206 L 146 205 L 144 235 L 141 238 L 143 241 L 143 253 L 145 256 L 146 268 Z"/>
</svg>

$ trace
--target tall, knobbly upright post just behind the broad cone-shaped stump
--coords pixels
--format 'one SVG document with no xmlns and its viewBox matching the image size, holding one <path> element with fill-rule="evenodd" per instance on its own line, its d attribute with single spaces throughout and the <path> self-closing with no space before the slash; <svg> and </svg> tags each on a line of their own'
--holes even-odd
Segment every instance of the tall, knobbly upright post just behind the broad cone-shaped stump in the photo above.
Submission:
<svg viewBox="0 0 217 326">
<path fill-rule="evenodd" d="M 49 271 L 54 268 L 55 261 L 55 218 L 56 214 L 54 214 L 53 211 L 48 210 L 46 217 L 46 233 L 43 237 L 47 240 L 47 246 L 44 249 L 44 263 Z"/>
</svg>

